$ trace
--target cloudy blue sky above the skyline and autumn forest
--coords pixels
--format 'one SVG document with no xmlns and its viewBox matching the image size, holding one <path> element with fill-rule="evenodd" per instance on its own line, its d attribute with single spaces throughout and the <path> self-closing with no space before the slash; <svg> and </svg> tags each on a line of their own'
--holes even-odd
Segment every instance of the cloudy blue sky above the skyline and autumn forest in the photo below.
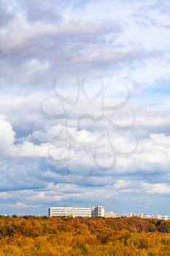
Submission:
<svg viewBox="0 0 170 256">
<path fill-rule="evenodd" d="M 0 12 L 0 214 L 170 214 L 169 0 Z"/>
</svg>

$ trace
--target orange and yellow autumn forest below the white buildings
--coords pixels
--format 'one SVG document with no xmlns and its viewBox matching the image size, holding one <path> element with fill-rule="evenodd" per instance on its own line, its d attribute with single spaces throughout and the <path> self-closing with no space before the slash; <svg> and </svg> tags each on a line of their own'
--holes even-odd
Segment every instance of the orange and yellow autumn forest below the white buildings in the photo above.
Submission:
<svg viewBox="0 0 170 256">
<path fill-rule="evenodd" d="M 170 256 L 170 221 L 0 217 L 1 256 Z"/>
</svg>

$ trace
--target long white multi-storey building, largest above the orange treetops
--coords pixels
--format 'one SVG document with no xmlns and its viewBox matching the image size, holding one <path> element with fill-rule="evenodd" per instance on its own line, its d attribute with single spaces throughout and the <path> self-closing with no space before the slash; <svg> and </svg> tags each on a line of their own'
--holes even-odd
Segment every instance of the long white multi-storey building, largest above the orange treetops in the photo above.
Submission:
<svg viewBox="0 0 170 256">
<path fill-rule="evenodd" d="M 50 207 L 49 217 L 72 216 L 72 217 L 104 217 L 104 206 L 89 207 Z"/>
</svg>

